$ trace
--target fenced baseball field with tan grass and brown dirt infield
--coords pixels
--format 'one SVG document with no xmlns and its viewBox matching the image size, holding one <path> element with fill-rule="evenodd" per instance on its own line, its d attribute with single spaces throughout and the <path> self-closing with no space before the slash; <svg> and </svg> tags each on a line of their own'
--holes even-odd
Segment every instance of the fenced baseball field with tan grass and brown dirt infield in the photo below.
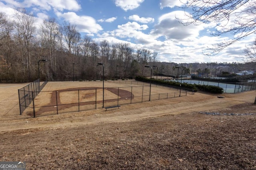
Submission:
<svg viewBox="0 0 256 170">
<path fill-rule="evenodd" d="M 38 117 L 186 96 L 186 90 L 132 80 L 48 82 L 22 114 Z M 104 95 L 103 95 L 104 94 Z M 149 95 L 150 94 L 150 95 Z M 104 96 L 104 98 L 103 98 Z"/>
</svg>

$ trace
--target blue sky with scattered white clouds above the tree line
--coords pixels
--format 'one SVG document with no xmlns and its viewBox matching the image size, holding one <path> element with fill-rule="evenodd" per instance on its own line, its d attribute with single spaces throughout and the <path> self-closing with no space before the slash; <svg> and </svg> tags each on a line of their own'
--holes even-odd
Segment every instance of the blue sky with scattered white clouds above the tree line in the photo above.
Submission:
<svg viewBox="0 0 256 170">
<path fill-rule="evenodd" d="M 245 45 L 255 35 L 242 39 L 209 57 L 202 52 L 214 43 L 227 39 L 212 37 L 216 23 L 184 26 L 175 18 L 184 18 L 176 6 L 180 0 L 0 0 L 0 12 L 11 18 L 14 9 L 25 8 L 40 25 L 48 16 L 76 25 L 81 35 L 89 35 L 99 43 L 130 43 L 136 48 L 158 52 L 158 60 L 174 63 L 242 62 Z M 227 35 L 226 35 L 227 36 Z"/>
</svg>

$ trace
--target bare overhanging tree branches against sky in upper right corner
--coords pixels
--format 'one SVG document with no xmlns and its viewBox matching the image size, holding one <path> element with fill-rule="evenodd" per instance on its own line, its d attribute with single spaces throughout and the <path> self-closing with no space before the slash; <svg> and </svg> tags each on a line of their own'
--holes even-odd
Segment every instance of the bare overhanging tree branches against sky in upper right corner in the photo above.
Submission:
<svg viewBox="0 0 256 170">
<path fill-rule="evenodd" d="M 192 10 L 190 14 L 186 13 L 186 19 L 178 18 L 183 25 L 215 22 L 221 29 L 212 35 L 233 35 L 229 40 L 214 45 L 210 48 L 212 52 L 206 55 L 216 55 L 229 45 L 256 32 L 255 0 L 188 0 L 181 8 Z"/>
</svg>

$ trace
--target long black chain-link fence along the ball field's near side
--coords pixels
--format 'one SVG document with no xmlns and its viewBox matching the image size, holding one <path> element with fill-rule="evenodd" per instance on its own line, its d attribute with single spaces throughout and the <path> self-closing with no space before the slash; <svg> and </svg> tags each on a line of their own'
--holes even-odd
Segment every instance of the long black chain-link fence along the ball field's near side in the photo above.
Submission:
<svg viewBox="0 0 256 170">
<path fill-rule="evenodd" d="M 139 83 L 140 82 L 138 82 L 138 84 Z M 26 90 L 22 90 L 22 92 Z M 145 85 L 107 87 L 104 88 L 104 90 L 103 88 L 77 88 L 72 90 L 40 91 L 40 93 L 34 91 L 37 96 L 36 98 L 31 98 L 32 102 L 27 106 L 28 108 L 25 112 L 32 117 L 38 117 L 103 107 L 122 106 L 149 100 L 176 98 L 187 95 L 187 91 L 182 89 L 177 91 L 172 90 L 170 93 L 162 94 L 150 94 L 150 90 L 150 86 Z"/>
</svg>

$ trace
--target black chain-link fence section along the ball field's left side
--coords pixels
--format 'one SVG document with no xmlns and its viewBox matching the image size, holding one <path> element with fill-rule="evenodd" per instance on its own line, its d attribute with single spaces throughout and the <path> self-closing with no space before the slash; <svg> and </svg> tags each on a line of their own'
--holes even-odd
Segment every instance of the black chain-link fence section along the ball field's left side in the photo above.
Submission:
<svg viewBox="0 0 256 170">
<path fill-rule="evenodd" d="M 30 105 L 34 102 L 34 98 L 36 98 L 46 83 L 47 81 L 40 85 L 40 79 L 37 79 L 23 88 L 18 89 L 20 115 L 27 107 L 31 107 Z"/>
</svg>

